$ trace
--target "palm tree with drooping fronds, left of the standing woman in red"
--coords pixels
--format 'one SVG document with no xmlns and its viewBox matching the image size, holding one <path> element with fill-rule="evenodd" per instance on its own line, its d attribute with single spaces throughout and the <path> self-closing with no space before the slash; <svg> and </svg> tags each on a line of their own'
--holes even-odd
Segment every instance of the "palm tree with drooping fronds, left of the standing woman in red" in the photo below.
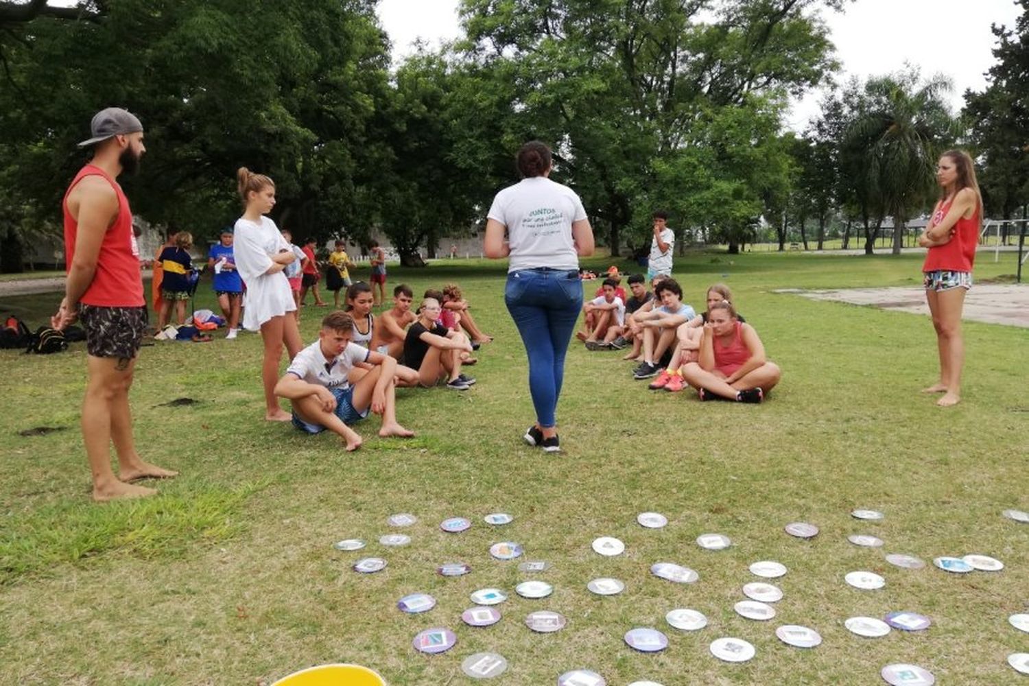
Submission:
<svg viewBox="0 0 1029 686">
<path fill-rule="evenodd" d="M 865 107 L 848 130 L 849 142 L 863 148 L 859 166 L 865 187 L 883 214 L 893 217 L 894 255 L 900 253 L 908 219 L 933 192 L 939 153 L 959 133 L 943 99 L 952 89 L 950 79 L 919 81 L 917 71 L 868 80 Z"/>
</svg>

